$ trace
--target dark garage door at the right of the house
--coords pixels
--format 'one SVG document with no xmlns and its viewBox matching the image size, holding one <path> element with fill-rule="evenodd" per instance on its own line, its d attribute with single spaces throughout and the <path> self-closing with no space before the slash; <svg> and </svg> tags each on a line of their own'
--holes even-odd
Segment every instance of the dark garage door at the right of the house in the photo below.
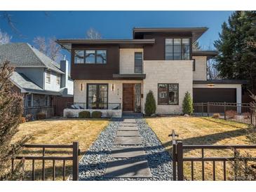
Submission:
<svg viewBox="0 0 256 192">
<path fill-rule="evenodd" d="M 236 88 L 193 88 L 193 102 L 236 102 Z"/>
</svg>

